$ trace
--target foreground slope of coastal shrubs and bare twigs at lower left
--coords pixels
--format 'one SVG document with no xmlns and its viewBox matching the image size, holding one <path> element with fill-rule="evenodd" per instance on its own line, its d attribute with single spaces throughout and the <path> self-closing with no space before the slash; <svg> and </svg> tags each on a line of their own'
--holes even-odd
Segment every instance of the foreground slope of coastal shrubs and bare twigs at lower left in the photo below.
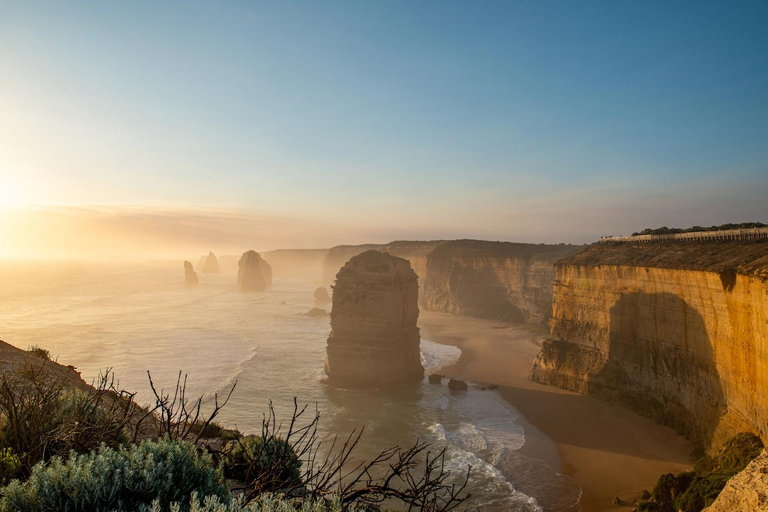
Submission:
<svg viewBox="0 0 768 512">
<path fill-rule="evenodd" d="M 469 470 L 454 478 L 426 443 L 362 462 L 362 431 L 321 447 L 319 412 L 296 400 L 287 428 L 270 403 L 260 434 L 243 435 L 215 421 L 235 386 L 204 413 L 186 376 L 165 393 L 148 374 L 142 406 L 111 372 L 89 386 L 49 358 L 22 361 L 0 377 L 2 512 L 443 512 L 469 497 Z"/>
</svg>

